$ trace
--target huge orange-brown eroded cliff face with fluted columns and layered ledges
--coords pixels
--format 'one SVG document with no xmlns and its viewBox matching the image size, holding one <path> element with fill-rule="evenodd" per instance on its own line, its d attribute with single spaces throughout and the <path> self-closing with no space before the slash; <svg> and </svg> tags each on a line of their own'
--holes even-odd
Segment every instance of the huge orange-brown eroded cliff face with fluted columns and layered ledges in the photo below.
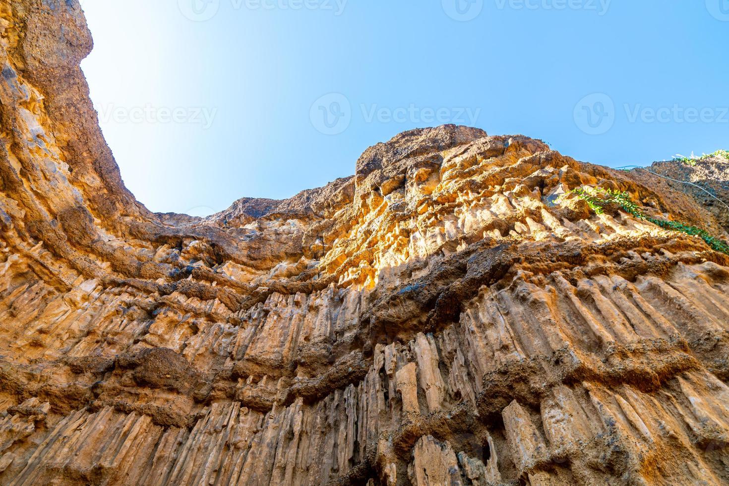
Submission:
<svg viewBox="0 0 729 486">
<path fill-rule="evenodd" d="M 156 215 L 77 0 L 1 1 L 0 42 L 0 484 L 729 482 L 729 257 L 558 195 L 725 235 L 720 208 L 443 126 L 290 200 Z"/>
</svg>

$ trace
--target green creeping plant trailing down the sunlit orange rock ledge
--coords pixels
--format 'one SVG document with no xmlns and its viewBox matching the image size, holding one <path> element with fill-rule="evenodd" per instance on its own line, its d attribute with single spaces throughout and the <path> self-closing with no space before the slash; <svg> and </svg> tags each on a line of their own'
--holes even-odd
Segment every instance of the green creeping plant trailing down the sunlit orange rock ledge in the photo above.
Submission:
<svg viewBox="0 0 729 486">
<path fill-rule="evenodd" d="M 656 226 L 661 227 L 664 230 L 679 231 L 685 233 L 686 235 L 701 238 L 715 251 L 720 251 L 724 254 L 729 255 L 729 244 L 724 240 L 720 240 L 720 238 L 710 235 L 709 232 L 706 232 L 706 230 L 702 230 L 701 228 L 697 228 L 695 226 L 690 226 L 689 224 L 678 221 L 668 221 L 667 219 L 658 219 L 653 218 L 652 216 L 648 216 L 639 208 L 636 203 L 633 202 L 630 194 L 628 194 L 627 191 L 620 192 L 613 189 L 603 189 L 602 187 L 577 187 L 576 189 L 572 189 L 572 191 L 566 194 L 574 194 L 577 197 L 580 197 L 580 199 L 584 200 L 585 203 L 588 203 L 590 208 L 597 214 L 604 213 L 604 206 L 609 204 L 617 204 L 620 206 L 620 208 L 623 209 L 623 211 L 631 214 L 637 219 L 642 219 L 643 221 L 655 224 Z"/>
</svg>

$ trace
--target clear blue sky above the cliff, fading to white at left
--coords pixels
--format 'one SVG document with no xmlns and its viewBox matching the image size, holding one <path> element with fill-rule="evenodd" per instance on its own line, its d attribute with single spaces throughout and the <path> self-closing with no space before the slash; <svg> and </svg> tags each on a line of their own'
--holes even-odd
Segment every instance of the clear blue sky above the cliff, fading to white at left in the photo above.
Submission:
<svg viewBox="0 0 729 486">
<path fill-rule="evenodd" d="M 82 0 L 122 177 L 198 216 L 454 122 L 612 166 L 729 149 L 729 0 Z"/>
</svg>

